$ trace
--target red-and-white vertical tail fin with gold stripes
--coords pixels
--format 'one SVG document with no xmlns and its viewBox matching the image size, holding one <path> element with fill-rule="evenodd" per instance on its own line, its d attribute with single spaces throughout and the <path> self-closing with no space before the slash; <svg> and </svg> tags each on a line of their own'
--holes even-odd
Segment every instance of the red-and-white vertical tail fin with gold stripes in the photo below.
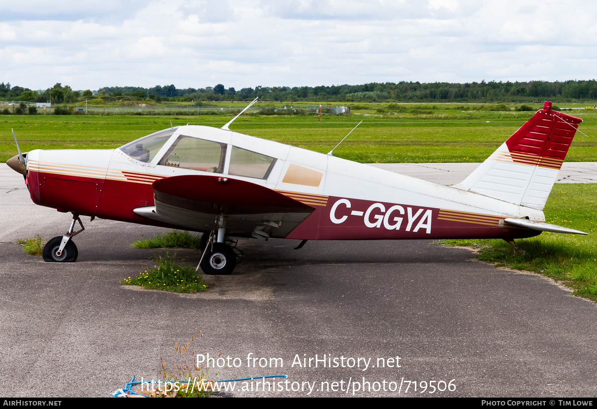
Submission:
<svg viewBox="0 0 597 409">
<path fill-rule="evenodd" d="M 543 109 L 455 188 L 543 210 L 582 119 Z"/>
</svg>

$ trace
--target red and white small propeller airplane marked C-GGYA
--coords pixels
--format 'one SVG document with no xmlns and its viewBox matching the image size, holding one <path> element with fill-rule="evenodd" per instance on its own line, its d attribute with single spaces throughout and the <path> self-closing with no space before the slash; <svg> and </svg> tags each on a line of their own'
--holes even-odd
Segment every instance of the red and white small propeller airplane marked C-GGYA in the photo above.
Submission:
<svg viewBox="0 0 597 409">
<path fill-rule="evenodd" d="M 543 207 L 582 122 L 549 101 L 454 186 L 230 131 L 237 117 L 220 129 L 171 126 L 116 149 L 22 154 L 17 142 L 7 164 L 24 175 L 33 202 L 73 215 L 68 231 L 45 244 L 44 260 L 76 260 L 81 216 L 202 232 L 206 274 L 233 271 L 239 238 L 298 239 L 299 249 L 307 240 L 514 244 L 542 231 L 586 234 L 545 222 Z"/>
</svg>

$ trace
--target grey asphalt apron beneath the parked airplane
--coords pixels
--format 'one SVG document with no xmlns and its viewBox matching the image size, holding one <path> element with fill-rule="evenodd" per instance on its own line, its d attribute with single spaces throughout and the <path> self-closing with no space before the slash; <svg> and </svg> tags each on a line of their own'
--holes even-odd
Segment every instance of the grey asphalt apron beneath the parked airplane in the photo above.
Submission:
<svg viewBox="0 0 597 409">
<path fill-rule="evenodd" d="M 436 168 L 415 166 L 423 178 Z M 160 228 L 86 218 L 78 261 L 44 263 L 14 242 L 58 236 L 70 216 L 31 203 L 23 178 L 4 164 L 0 212 L 3 396 L 109 396 L 133 375 L 159 379 L 159 355 L 180 362 L 174 343 L 192 335 L 196 354 L 229 357 L 210 378 L 288 374 L 236 382 L 220 396 L 596 393 L 597 306 L 466 249 L 418 240 L 309 241 L 293 250 L 296 240 L 247 240 L 233 275 L 210 277 L 207 293 L 177 295 L 118 283 L 153 254 L 130 243 Z M 195 252 L 174 251 L 198 262 Z M 454 390 L 437 390 L 448 385 Z"/>
</svg>

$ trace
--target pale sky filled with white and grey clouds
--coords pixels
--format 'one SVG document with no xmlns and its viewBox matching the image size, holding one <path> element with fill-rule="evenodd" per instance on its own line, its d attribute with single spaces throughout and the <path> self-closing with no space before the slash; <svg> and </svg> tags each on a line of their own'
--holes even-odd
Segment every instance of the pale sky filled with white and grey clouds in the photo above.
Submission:
<svg viewBox="0 0 597 409">
<path fill-rule="evenodd" d="M 0 82 L 30 89 L 595 79 L 597 2 L 0 2 Z"/>
</svg>

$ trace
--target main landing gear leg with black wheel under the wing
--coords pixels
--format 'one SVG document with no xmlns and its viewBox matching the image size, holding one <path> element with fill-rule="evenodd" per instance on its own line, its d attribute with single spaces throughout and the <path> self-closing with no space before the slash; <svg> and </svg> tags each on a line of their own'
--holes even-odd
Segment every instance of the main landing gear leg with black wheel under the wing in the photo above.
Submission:
<svg viewBox="0 0 597 409">
<path fill-rule="evenodd" d="M 223 227 L 223 218 L 217 221 L 216 228 L 211 231 L 209 240 L 206 243 L 201 261 L 197 269 L 201 267 L 208 275 L 232 274 L 236 267 L 237 255 L 233 248 L 226 244 L 226 228 Z M 207 234 L 207 233 L 204 233 Z"/>
</svg>

